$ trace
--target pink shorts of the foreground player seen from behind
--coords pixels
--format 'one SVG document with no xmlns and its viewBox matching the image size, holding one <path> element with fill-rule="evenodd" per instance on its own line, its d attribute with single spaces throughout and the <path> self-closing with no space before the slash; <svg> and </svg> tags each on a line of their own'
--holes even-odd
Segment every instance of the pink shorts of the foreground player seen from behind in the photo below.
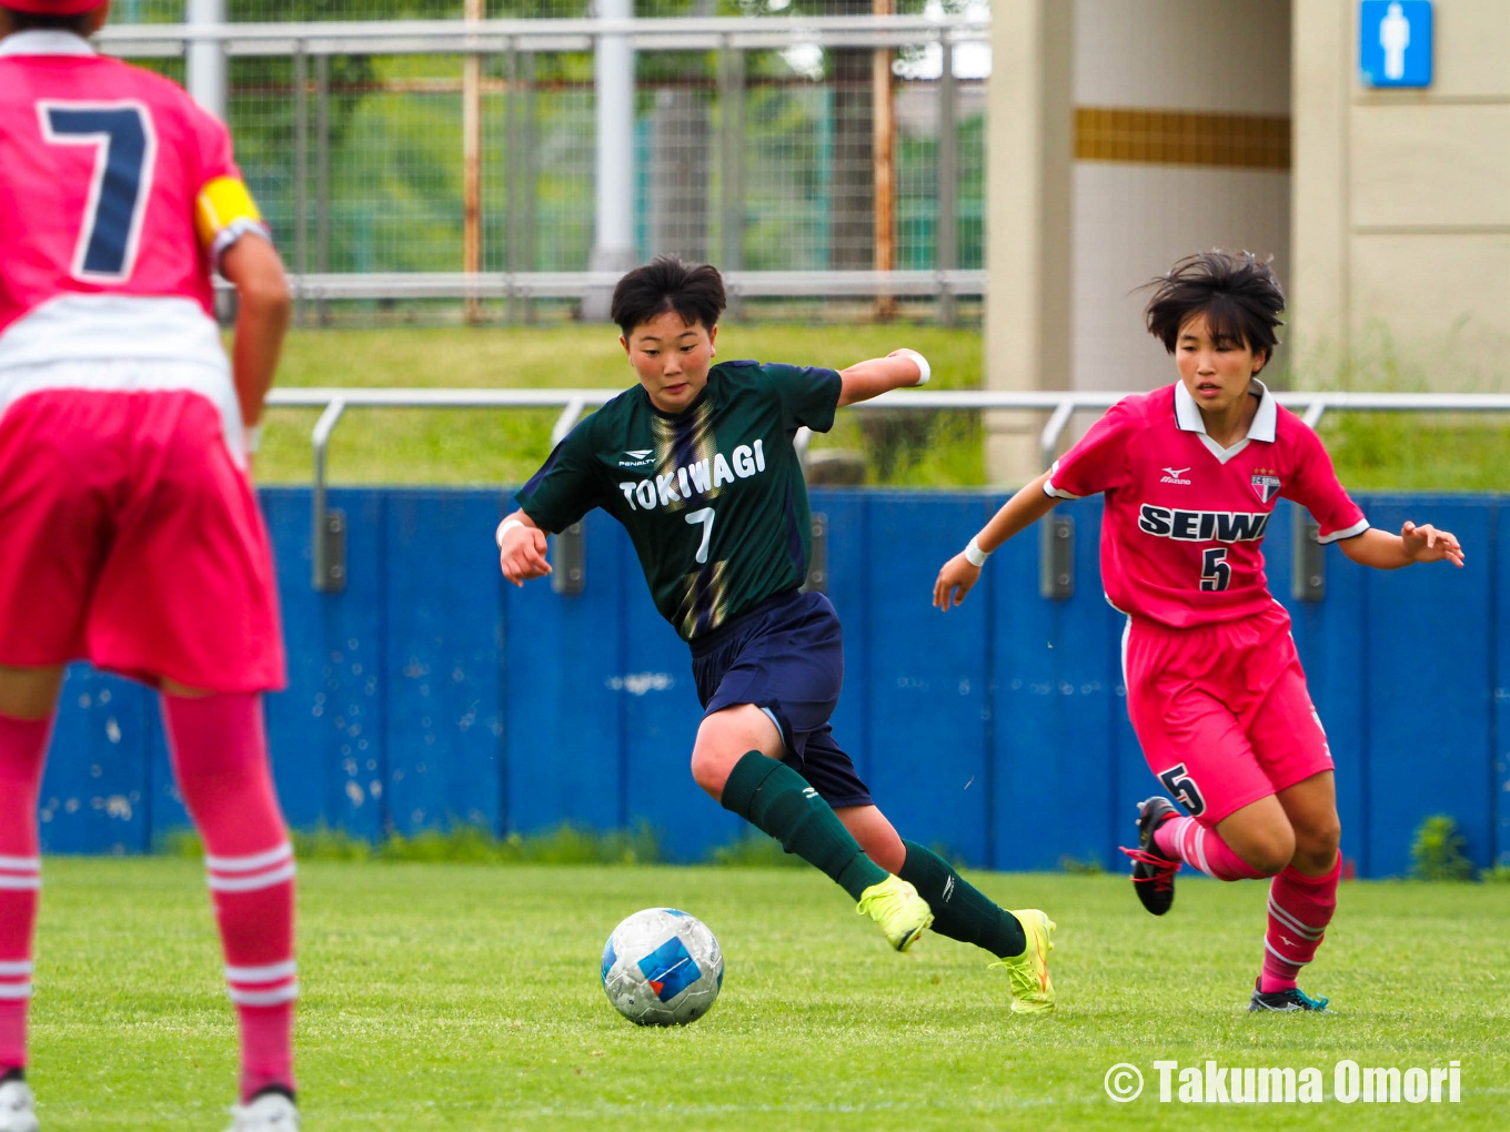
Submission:
<svg viewBox="0 0 1510 1132">
<path fill-rule="evenodd" d="M 267 528 L 196 392 L 47 389 L 0 417 L 0 664 L 284 685 Z"/>
</svg>

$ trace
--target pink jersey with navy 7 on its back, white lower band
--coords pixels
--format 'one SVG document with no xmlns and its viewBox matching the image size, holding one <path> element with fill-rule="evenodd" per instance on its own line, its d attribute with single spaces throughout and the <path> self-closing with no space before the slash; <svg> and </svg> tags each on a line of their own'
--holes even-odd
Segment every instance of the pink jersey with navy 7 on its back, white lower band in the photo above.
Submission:
<svg viewBox="0 0 1510 1132">
<path fill-rule="evenodd" d="M 246 225 L 207 232 L 217 181 L 240 184 L 230 133 L 183 88 L 63 32 L 0 41 L 0 370 L 223 370 L 211 257 Z"/>
</svg>

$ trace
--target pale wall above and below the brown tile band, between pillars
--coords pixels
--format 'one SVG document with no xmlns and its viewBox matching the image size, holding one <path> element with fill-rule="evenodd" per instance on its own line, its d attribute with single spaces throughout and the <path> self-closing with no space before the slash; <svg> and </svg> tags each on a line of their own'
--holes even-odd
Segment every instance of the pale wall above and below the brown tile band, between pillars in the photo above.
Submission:
<svg viewBox="0 0 1510 1132">
<path fill-rule="evenodd" d="M 1075 104 L 1285 116 L 1290 38 L 1285 0 L 1077 0 Z M 1072 241 L 1071 388 L 1152 389 L 1173 365 L 1134 288 L 1208 248 L 1273 257 L 1285 279 L 1290 172 L 1077 160 Z"/>
</svg>

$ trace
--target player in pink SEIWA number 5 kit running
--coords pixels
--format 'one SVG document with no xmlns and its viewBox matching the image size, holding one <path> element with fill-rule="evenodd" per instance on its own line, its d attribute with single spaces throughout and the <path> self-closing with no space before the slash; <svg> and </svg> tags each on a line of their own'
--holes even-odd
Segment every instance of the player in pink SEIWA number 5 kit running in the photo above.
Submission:
<svg viewBox="0 0 1510 1132">
<path fill-rule="evenodd" d="M 1139 806 L 1139 847 L 1123 850 L 1137 894 L 1161 916 L 1181 863 L 1219 880 L 1273 877 L 1249 1010 L 1326 1010 L 1296 978 L 1336 907 L 1332 753 L 1259 543 L 1284 497 L 1365 566 L 1462 566 L 1463 548 L 1430 525 L 1370 527 L 1317 435 L 1258 380 L 1285 305 L 1267 264 L 1205 252 L 1151 287 L 1148 329 L 1179 380 L 1111 406 L 1013 495 L 944 563 L 933 604 L 962 602 L 986 555 L 1060 500 L 1105 495 L 1101 575 L 1128 616 L 1128 714 L 1149 770 L 1188 812 L 1164 797 Z"/>
</svg>

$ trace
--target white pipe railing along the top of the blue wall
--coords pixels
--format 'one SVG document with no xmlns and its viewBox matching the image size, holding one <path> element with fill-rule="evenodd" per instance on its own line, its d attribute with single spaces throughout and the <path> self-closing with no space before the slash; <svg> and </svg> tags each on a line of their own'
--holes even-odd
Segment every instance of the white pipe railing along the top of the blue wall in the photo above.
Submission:
<svg viewBox="0 0 1510 1132">
<path fill-rule="evenodd" d="M 320 409 L 311 433 L 314 451 L 313 584 L 317 590 L 340 590 L 346 584 L 344 516 L 328 504 L 326 454 L 331 433 L 346 409 L 562 409 L 551 430 L 551 444 L 571 430 L 583 411 L 607 403 L 624 389 L 364 389 L 364 388 L 302 388 L 273 389 L 267 405 L 278 409 Z M 1060 436 L 1077 411 L 1108 409 L 1129 392 L 1034 389 L 1024 392 L 897 389 L 870 401 L 850 406 L 859 412 L 903 411 L 989 411 L 1016 409 L 1048 412 L 1039 433 L 1039 454 L 1043 468 L 1054 462 Z M 1510 412 L 1510 394 L 1430 394 L 1430 392 L 1279 392 L 1276 398 L 1293 412 L 1303 412 L 1306 424 L 1315 427 L 1327 412 Z M 799 435 L 805 451 L 808 436 Z M 1299 516 L 1297 510 L 1297 516 Z M 1297 522 L 1303 524 L 1303 518 Z M 1045 596 L 1068 596 L 1068 554 L 1072 527 L 1066 522 L 1043 528 L 1042 592 Z M 1309 552 L 1311 539 L 1297 539 L 1296 595 L 1315 601 L 1324 593 L 1324 572 L 1320 560 Z"/>
</svg>

